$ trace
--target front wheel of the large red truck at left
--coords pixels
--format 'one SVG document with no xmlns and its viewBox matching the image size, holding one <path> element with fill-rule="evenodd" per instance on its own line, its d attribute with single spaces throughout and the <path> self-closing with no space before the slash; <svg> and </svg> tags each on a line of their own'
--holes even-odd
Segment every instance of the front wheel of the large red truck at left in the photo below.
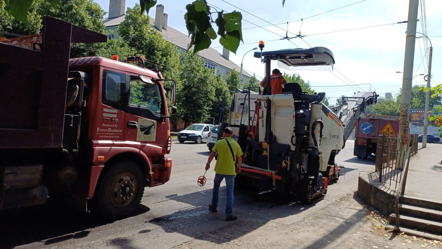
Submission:
<svg viewBox="0 0 442 249">
<path fill-rule="evenodd" d="M 143 171 L 132 161 L 117 162 L 105 172 L 97 190 L 97 205 L 104 217 L 127 216 L 143 197 Z"/>
</svg>

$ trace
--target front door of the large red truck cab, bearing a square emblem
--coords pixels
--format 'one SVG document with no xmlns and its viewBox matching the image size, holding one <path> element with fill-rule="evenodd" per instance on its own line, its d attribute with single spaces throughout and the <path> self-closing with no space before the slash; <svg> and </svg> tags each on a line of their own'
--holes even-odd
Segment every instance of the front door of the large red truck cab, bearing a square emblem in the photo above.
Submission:
<svg viewBox="0 0 442 249">
<path fill-rule="evenodd" d="M 128 76 L 129 94 L 126 106 L 125 141 L 144 144 L 164 144 L 165 104 L 162 87 L 145 76 Z"/>
</svg>

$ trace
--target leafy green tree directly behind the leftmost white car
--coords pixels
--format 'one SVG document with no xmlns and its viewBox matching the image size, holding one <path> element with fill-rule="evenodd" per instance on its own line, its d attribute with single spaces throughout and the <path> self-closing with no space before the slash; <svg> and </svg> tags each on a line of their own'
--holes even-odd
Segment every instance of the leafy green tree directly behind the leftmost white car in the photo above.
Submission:
<svg viewBox="0 0 442 249">
<path fill-rule="evenodd" d="M 181 62 L 182 90 L 177 91 L 178 119 L 187 126 L 211 115 L 217 80 L 212 76 L 213 71 L 205 67 L 204 61 L 192 51 L 182 53 Z"/>
</svg>

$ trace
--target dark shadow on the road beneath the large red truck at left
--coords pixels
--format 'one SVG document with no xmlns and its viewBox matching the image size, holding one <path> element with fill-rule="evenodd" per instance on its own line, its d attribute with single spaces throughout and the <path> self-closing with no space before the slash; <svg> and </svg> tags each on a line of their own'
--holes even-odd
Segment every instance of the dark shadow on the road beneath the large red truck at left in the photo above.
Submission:
<svg viewBox="0 0 442 249">
<path fill-rule="evenodd" d="M 139 205 L 131 216 L 148 212 Z M 44 241 L 45 245 L 85 238 L 89 230 L 114 221 L 74 209 L 71 199 L 49 199 L 45 204 L 0 212 L 0 248 Z"/>
</svg>

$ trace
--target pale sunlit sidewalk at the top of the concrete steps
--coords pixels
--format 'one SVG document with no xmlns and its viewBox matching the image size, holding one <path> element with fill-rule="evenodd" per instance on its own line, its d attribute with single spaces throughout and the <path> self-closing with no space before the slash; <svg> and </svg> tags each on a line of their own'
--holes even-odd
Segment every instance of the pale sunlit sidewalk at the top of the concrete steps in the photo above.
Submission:
<svg viewBox="0 0 442 249">
<path fill-rule="evenodd" d="M 428 144 L 410 159 L 405 195 L 442 202 L 442 144 Z"/>
</svg>

